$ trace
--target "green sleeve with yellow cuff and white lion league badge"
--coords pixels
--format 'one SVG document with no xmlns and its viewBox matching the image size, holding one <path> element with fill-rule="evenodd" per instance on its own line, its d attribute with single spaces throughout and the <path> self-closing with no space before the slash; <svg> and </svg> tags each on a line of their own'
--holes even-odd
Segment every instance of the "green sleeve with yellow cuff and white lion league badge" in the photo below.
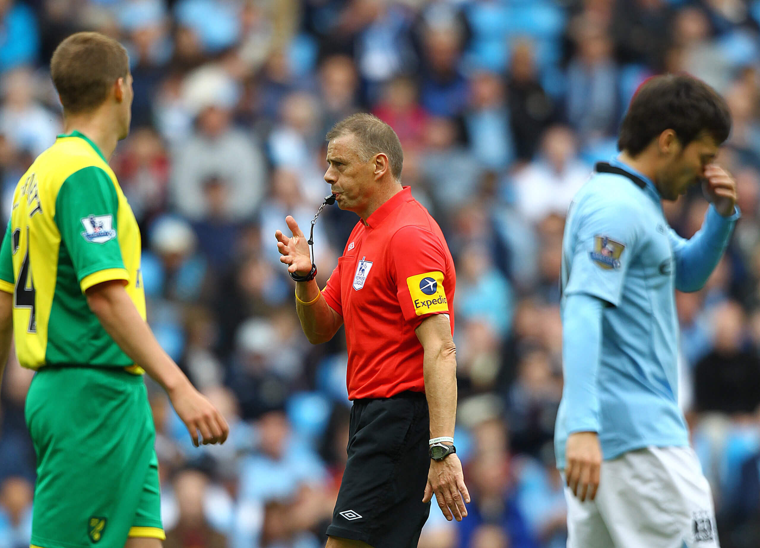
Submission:
<svg viewBox="0 0 760 548">
<path fill-rule="evenodd" d="M 116 233 L 119 198 L 108 174 L 90 166 L 69 176 L 55 198 L 55 223 L 82 292 L 111 280 L 129 280 Z"/>
</svg>

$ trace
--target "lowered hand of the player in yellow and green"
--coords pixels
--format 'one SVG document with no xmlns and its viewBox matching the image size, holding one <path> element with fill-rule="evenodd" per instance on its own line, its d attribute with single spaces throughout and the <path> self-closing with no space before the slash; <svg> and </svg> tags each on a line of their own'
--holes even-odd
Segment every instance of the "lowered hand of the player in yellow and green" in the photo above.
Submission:
<svg viewBox="0 0 760 548">
<path fill-rule="evenodd" d="M 203 445 L 225 442 L 230 434 L 230 426 L 222 417 L 222 413 L 217 411 L 217 408 L 199 391 L 195 390 L 190 382 L 176 388 L 173 392 L 169 392 L 169 400 L 172 401 L 179 418 L 187 426 L 192 438 L 192 445 L 198 447 L 201 442 Z M 198 432 L 201 432 L 200 439 Z"/>
</svg>

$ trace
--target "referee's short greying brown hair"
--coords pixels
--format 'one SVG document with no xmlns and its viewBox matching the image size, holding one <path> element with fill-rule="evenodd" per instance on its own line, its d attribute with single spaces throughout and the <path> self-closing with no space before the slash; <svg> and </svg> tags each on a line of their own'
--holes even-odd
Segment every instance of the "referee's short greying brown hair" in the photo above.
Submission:
<svg viewBox="0 0 760 548">
<path fill-rule="evenodd" d="M 394 179 L 401 179 L 404 151 L 401 150 L 398 135 L 390 125 L 372 114 L 357 112 L 337 122 L 325 138 L 332 141 L 343 135 L 356 137 L 356 153 L 363 162 L 369 162 L 375 154 L 385 154 L 388 157 L 388 163 L 391 164 L 391 174 Z"/>
</svg>

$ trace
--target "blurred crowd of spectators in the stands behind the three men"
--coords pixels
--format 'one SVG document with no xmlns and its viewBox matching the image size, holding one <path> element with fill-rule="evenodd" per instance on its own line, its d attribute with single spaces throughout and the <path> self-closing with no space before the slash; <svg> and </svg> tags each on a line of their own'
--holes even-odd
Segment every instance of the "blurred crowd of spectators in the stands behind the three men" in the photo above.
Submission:
<svg viewBox="0 0 760 548">
<path fill-rule="evenodd" d="M 679 398 L 724 548 L 760 546 L 760 1 L 0 0 L 0 207 L 62 129 L 48 63 L 98 30 L 128 49 L 130 137 L 111 165 L 143 236 L 150 325 L 225 414 L 193 448 L 148 382 L 167 548 L 316 548 L 346 459 L 343 332 L 302 335 L 274 231 L 328 195 L 324 135 L 357 111 L 404 146 L 404 185 L 439 222 L 458 274 L 456 445 L 470 515 L 435 504 L 421 548 L 559 548 L 553 426 L 562 393 L 565 209 L 641 81 L 687 71 L 727 98 L 720 163 L 743 217 L 707 287 L 679 293 Z M 665 204 L 698 230 L 699 188 Z M 315 226 L 320 285 L 357 217 Z M 0 548 L 27 548 L 31 373 L 0 392 Z M 107 481 L 107 478 L 95 480 Z"/>
</svg>

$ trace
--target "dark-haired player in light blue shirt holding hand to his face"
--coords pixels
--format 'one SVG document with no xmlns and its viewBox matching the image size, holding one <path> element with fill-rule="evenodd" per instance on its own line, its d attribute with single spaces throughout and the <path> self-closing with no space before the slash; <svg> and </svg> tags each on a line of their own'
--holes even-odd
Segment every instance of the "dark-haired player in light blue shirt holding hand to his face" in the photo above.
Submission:
<svg viewBox="0 0 760 548">
<path fill-rule="evenodd" d="M 689 76 L 646 82 L 622 122 L 621 154 L 575 196 L 562 242 L 558 467 L 568 548 L 718 546 L 710 487 L 678 407 L 675 290 L 701 289 L 736 218 L 736 183 L 714 164 L 727 105 Z M 662 200 L 701 182 L 711 201 L 686 240 Z"/>
</svg>

